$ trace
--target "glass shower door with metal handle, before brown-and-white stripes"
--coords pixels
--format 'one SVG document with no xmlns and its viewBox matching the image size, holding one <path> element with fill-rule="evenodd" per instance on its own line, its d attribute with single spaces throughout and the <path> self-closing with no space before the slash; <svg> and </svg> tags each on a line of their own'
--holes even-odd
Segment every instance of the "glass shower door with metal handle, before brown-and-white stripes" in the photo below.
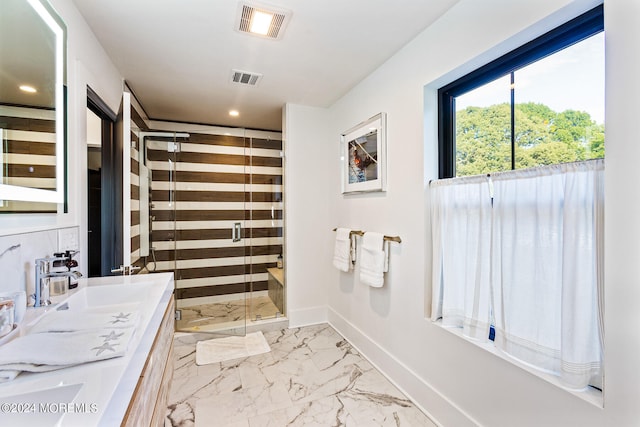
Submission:
<svg viewBox="0 0 640 427">
<path fill-rule="evenodd" d="M 243 132 L 188 132 L 148 147 L 152 240 L 158 262 L 174 272 L 176 330 L 244 335 L 251 274 Z"/>
</svg>

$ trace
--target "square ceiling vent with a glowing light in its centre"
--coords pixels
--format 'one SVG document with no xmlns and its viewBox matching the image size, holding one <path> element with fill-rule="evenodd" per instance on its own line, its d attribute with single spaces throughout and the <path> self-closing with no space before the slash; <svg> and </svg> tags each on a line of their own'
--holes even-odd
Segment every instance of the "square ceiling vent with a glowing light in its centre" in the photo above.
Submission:
<svg viewBox="0 0 640 427">
<path fill-rule="evenodd" d="M 236 30 L 269 39 L 281 39 L 291 12 L 271 6 L 240 3 Z"/>
</svg>

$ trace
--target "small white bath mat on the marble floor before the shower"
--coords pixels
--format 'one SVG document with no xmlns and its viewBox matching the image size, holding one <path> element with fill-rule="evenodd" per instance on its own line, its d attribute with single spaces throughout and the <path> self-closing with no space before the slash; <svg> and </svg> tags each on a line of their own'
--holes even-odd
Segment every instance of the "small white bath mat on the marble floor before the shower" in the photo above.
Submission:
<svg viewBox="0 0 640 427">
<path fill-rule="evenodd" d="M 261 331 L 252 332 L 244 337 L 214 338 L 196 343 L 196 365 L 224 362 L 268 353 L 271 347 Z"/>
</svg>

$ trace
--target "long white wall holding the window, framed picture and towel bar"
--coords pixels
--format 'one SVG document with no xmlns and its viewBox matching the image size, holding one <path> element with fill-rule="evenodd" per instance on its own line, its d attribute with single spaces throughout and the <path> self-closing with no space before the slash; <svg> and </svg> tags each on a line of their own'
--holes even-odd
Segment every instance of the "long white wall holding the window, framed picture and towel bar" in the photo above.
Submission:
<svg viewBox="0 0 640 427">
<path fill-rule="evenodd" d="M 427 182 L 437 177 L 435 91 L 444 83 L 589 10 L 592 0 L 461 0 L 393 58 L 327 110 L 289 106 L 287 144 L 306 147 L 329 161 L 327 179 L 302 168 L 287 169 L 298 188 L 328 194 L 329 221 L 306 231 L 318 253 L 333 250 L 327 227 L 346 226 L 397 234 L 385 287 L 367 288 L 357 275 L 324 263 L 290 271 L 291 288 L 306 279 L 309 292 L 327 293 L 328 320 L 421 404 L 441 425 L 631 426 L 640 425 L 640 144 L 635 141 L 640 107 L 637 40 L 640 1 L 606 0 L 606 346 L 604 409 L 532 375 L 453 335 L 425 318 L 430 294 Z M 386 194 L 343 196 L 339 183 L 339 135 L 354 124 L 388 114 Z M 320 151 L 324 150 L 325 154 Z M 638 153 L 634 155 L 634 153 Z M 289 159 L 291 160 L 291 159 Z M 296 165 L 297 166 L 297 165 Z M 291 191 L 291 189 L 289 189 Z M 294 192 L 297 195 L 298 192 Z M 293 199 L 293 198 L 292 198 Z M 292 200 L 288 215 L 317 215 L 317 205 Z M 319 202 L 318 202 L 319 203 Z M 320 219 L 320 218 L 318 218 Z M 329 224 L 327 224 L 327 222 Z M 311 226 L 312 224 L 305 224 Z M 296 229 L 288 251 L 303 243 Z M 289 256 L 289 263 L 292 259 Z M 295 286 L 294 286 L 295 284 Z M 313 298 L 290 308 L 313 307 Z M 304 304 L 304 305 L 300 305 Z M 318 321 L 321 321 L 319 318 Z"/>
</svg>

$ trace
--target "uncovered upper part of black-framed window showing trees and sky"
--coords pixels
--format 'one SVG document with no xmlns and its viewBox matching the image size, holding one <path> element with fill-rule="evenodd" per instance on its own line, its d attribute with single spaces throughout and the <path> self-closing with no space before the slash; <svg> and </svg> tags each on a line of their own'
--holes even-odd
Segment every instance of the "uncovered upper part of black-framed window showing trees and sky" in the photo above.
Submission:
<svg viewBox="0 0 640 427">
<path fill-rule="evenodd" d="M 438 91 L 440 178 L 604 157 L 599 6 Z"/>
</svg>

